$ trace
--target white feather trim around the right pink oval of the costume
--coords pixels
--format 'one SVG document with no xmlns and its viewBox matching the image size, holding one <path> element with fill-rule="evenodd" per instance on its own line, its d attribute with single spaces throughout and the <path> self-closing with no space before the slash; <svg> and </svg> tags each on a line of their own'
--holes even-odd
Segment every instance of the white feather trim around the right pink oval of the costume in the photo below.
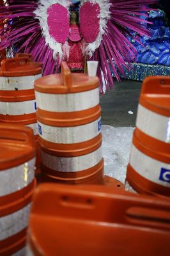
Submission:
<svg viewBox="0 0 170 256">
<path fill-rule="evenodd" d="M 86 47 L 84 48 L 84 54 L 88 55 L 89 58 L 93 55 L 95 50 L 100 46 L 102 40 L 103 40 L 103 35 L 107 31 L 107 22 L 109 19 L 111 19 L 111 13 L 110 13 L 110 6 L 111 4 L 109 3 L 109 0 L 82 0 L 82 4 L 90 2 L 90 3 L 98 3 L 100 6 L 100 15 L 98 16 L 100 18 L 99 22 L 99 33 L 97 36 L 97 39 L 95 42 L 86 44 Z"/>
</svg>

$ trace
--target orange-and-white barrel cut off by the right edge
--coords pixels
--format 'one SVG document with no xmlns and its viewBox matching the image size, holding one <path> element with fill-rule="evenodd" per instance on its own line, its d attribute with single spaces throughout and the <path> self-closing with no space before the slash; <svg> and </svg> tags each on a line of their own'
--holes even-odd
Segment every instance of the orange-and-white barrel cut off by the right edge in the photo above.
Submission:
<svg viewBox="0 0 170 256">
<path fill-rule="evenodd" d="M 170 196 L 170 77 L 144 80 L 125 188 Z"/>
</svg>

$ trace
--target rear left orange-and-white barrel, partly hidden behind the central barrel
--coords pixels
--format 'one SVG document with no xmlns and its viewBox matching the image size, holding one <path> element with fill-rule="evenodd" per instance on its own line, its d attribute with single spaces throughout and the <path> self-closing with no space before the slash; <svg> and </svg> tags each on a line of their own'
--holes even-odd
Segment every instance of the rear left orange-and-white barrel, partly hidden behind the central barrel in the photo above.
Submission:
<svg viewBox="0 0 170 256">
<path fill-rule="evenodd" d="M 0 70 L 0 122 L 27 125 L 34 131 L 36 166 L 40 163 L 34 81 L 42 68 L 31 65 L 28 58 L 3 60 Z"/>
</svg>

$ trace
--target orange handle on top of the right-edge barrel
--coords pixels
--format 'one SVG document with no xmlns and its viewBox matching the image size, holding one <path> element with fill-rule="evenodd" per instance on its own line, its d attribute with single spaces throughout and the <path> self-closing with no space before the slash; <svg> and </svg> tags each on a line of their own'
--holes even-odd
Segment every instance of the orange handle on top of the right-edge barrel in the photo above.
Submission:
<svg viewBox="0 0 170 256">
<path fill-rule="evenodd" d="M 170 77 L 150 76 L 143 81 L 141 94 L 170 94 Z"/>
</svg>

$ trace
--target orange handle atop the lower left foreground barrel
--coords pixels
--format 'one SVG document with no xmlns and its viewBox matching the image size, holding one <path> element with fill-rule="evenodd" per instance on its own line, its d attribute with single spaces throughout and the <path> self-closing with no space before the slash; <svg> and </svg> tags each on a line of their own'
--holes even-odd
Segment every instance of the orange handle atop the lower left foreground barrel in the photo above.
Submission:
<svg viewBox="0 0 170 256">
<path fill-rule="evenodd" d="M 0 124 L 1 140 L 13 140 L 20 145 L 33 145 L 33 131 L 21 125 Z"/>
</svg>

